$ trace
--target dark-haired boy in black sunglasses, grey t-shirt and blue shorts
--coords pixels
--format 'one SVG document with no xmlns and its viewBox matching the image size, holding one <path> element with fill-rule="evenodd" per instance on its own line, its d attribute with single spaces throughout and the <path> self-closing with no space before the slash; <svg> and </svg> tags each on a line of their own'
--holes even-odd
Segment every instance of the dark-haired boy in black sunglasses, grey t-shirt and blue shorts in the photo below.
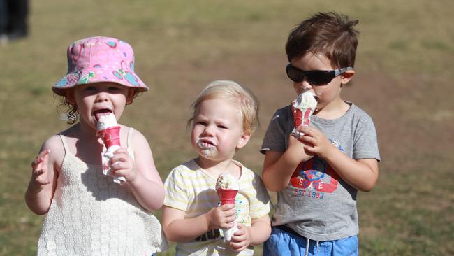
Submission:
<svg viewBox="0 0 454 256">
<path fill-rule="evenodd" d="M 263 139 L 263 183 L 278 192 L 264 255 L 358 255 L 356 194 L 375 186 L 380 156 L 372 119 L 340 96 L 355 73 L 357 23 L 318 13 L 288 36 L 288 77 L 296 94 L 315 94 L 317 107 L 298 127 L 302 138 L 291 134 L 286 106 Z"/>
</svg>

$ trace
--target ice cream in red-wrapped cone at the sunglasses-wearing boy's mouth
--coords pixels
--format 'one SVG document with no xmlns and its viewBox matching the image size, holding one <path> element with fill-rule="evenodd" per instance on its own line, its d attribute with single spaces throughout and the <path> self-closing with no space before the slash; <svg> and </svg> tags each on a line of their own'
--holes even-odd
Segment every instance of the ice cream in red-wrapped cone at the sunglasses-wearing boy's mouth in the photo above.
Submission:
<svg viewBox="0 0 454 256">
<path fill-rule="evenodd" d="M 309 126 L 311 122 L 312 114 L 317 107 L 317 101 L 314 92 L 306 91 L 298 95 L 298 97 L 292 101 L 292 113 L 293 113 L 293 135 L 295 138 L 301 138 L 304 134 L 298 131 L 300 125 Z"/>
</svg>

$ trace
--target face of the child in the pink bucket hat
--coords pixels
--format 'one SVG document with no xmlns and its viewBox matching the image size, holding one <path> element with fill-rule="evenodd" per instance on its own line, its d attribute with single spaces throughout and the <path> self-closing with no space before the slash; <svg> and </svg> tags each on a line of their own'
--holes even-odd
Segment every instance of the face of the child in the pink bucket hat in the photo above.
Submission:
<svg viewBox="0 0 454 256">
<path fill-rule="evenodd" d="M 113 113 L 117 120 L 133 100 L 133 89 L 117 83 L 78 85 L 68 93 L 68 101 L 78 106 L 81 122 L 96 129 L 101 115 Z"/>
</svg>

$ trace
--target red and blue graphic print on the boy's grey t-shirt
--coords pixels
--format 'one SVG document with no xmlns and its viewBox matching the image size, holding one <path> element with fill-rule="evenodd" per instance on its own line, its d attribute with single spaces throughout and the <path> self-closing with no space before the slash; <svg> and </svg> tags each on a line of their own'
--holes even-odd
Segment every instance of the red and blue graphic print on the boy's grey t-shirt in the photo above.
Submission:
<svg viewBox="0 0 454 256">
<path fill-rule="evenodd" d="M 330 141 L 339 150 L 344 151 L 339 143 Z M 334 169 L 325 160 L 314 155 L 312 159 L 302 162 L 296 167 L 290 183 L 295 188 L 295 196 L 323 199 L 324 193 L 332 193 L 337 189 L 337 180 L 339 180 L 339 176 Z M 314 192 L 307 190 L 314 190 Z"/>
</svg>

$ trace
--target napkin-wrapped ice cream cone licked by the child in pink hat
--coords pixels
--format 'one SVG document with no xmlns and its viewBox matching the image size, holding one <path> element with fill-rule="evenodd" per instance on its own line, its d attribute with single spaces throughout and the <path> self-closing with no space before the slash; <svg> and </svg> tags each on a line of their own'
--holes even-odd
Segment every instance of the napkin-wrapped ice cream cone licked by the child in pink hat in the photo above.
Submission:
<svg viewBox="0 0 454 256">
<path fill-rule="evenodd" d="M 103 164 L 103 174 L 110 174 L 109 161 L 114 156 L 114 152 L 120 148 L 120 129 L 121 127 L 117 124 L 117 118 L 112 113 L 107 115 L 101 115 L 98 118 L 96 135 L 101 137 L 105 148 L 107 150 L 101 153 L 101 159 Z M 117 163 L 115 163 L 117 164 Z M 124 177 L 115 177 L 113 180 L 115 183 L 121 183 L 126 181 Z"/>
</svg>

